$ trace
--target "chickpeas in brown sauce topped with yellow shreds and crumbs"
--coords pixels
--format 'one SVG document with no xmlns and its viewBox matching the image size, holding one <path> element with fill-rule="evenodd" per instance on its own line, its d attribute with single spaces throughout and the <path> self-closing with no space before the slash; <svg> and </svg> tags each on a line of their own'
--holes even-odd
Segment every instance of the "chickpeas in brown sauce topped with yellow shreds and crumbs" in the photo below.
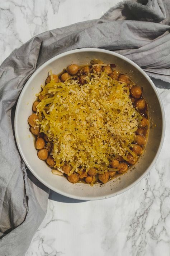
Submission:
<svg viewBox="0 0 170 256">
<path fill-rule="evenodd" d="M 94 59 L 51 72 L 33 103 L 28 123 L 38 157 L 71 183 L 107 183 L 143 153 L 147 103 L 142 88 L 115 68 Z"/>
</svg>

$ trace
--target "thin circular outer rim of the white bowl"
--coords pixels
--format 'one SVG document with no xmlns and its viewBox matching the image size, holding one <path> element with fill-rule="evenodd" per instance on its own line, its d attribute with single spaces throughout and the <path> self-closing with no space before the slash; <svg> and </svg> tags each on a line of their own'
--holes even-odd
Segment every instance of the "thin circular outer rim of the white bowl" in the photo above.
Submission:
<svg viewBox="0 0 170 256">
<path fill-rule="evenodd" d="M 162 134 L 161 134 L 161 140 L 160 140 L 160 144 L 159 144 L 159 148 L 155 154 L 155 157 L 154 159 L 152 160 L 150 166 L 145 170 L 145 172 L 139 177 L 137 178 L 135 181 L 133 181 L 133 183 L 131 183 L 130 185 L 128 185 L 126 188 L 124 189 L 121 189 L 119 192 L 117 193 L 110 193 L 109 195 L 107 196 L 92 196 L 92 197 L 86 197 L 86 196 L 72 196 L 70 195 L 69 193 L 65 193 L 65 192 L 62 192 L 61 190 L 53 187 L 52 185 L 49 185 L 48 182 L 46 180 L 42 180 L 41 178 L 39 178 L 39 176 L 36 174 L 36 172 L 34 170 L 31 169 L 31 167 L 29 166 L 29 163 L 27 161 L 27 157 L 24 156 L 23 154 L 23 151 L 22 151 L 22 148 L 20 147 L 20 143 L 18 141 L 18 139 L 16 139 L 16 143 L 17 143 L 17 146 L 18 146 L 18 150 L 19 150 L 19 153 L 20 155 L 22 156 L 22 159 L 25 163 L 25 165 L 27 165 L 28 169 L 32 172 L 32 174 L 39 180 L 41 181 L 41 183 L 43 183 L 46 187 L 48 187 L 49 189 L 57 192 L 58 194 L 61 194 L 63 196 L 66 196 L 66 197 L 69 197 L 69 198 L 74 198 L 74 199 L 77 199 L 77 200 L 84 200 L 84 201 L 89 201 L 89 200 L 99 200 L 99 199 L 105 199 L 105 198 L 110 198 L 110 197 L 114 197 L 114 196 L 117 196 L 119 194 L 122 194 L 124 192 L 126 192 L 127 190 L 131 189 L 134 185 L 136 185 L 138 182 L 140 182 L 144 177 L 145 175 L 152 169 L 152 167 L 154 166 L 159 154 L 160 154 L 160 151 L 161 151 L 161 148 L 162 148 L 162 145 L 163 145 L 163 142 L 164 142 L 164 137 L 165 137 L 165 112 L 164 112 L 164 107 L 163 107 L 163 104 L 162 104 L 162 100 L 160 98 L 160 95 L 157 91 L 157 88 L 154 84 L 154 82 L 152 82 L 151 78 L 145 73 L 145 71 L 143 71 L 142 68 L 140 68 L 136 63 L 134 63 L 132 60 L 124 57 L 123 55 L 121 54 L 118 54 L 118 53 L 115 53 L 114 51 L 109 51 L 109 50 L 105 50 L 105 49 L 99 49 L 99 48 L 81 48 L 81 49 L 75 49 L 75 50 L 70 50 L 70 51 L 66 51 L 64 53 L 61 53 L 61 54 L 58 54 L 56 55 L 55 57 L 47 60 L 46 62 L 44 62 L 39 68 L 36 69 L 36 71 L 29 77 L 29 79 L 27 80 L 27 82 L 25 83 L 25 85 L 23 86 L 22 88 L 22 91 L 19 95 L 19 98 L 18 98 L 18 102 L 17 102 L 17 105 L 16 105 L 16 109 L 15 109 L 15 118 L 14 118 L 14 131 L 15 131 L 15 138 L 17 138 L 17 130 L 18 130 L 18 126 L 17 126 L 17 122 L 16 122 L 16 119 L 17 119 L 17 116 L 18 116 L 18 112 L 19 112 L 19 102 L 22 100 L 22 96 L 24 95 L 24 92 L 27 88 L 27 86 L 30 84 L 30 82 L 33 80 L 33 78 L 37 75 L 37 73 L 39 73 L 41 71 L 41 69 L 43 69 L 44 67 L 46 67 L 48 64 L 50 64 L 51 62 L 53 62 L 54 60 L 58 59 L 58 58 L 61 58 L 61 57 L 64 57 L 66 55 L 69 55 L 69 54 L 74 54 L 74 53 L 77 53 L 77 52 L 90 52 L 90 51 L 96 51 L 96 52 L 103 52 L 103 53 L 107 53 L 107 54 L 110 54 L 110 55 L 113 55 L 113 56 L 116 56 L 118 58 L 121 58 L 122 60 L 126 60 L 128 63 L 132 64 L 132 66 L 134 66 L 135 68 L 138 69 L 138 71 L 140 71 L 142 73 L 143 76 L 146 77 L 146 79 L 148 80 L 148 82 L 150 83 L 150 85 L 152 86 L 152 88 L 154 89 L 155 91 L 155 94 L 157 96 L 157 99 L 159 101 L 159 104 L 160 104 L 160 108 L 161 108 L 161 114 L 162 114 Z"/>
</svg>

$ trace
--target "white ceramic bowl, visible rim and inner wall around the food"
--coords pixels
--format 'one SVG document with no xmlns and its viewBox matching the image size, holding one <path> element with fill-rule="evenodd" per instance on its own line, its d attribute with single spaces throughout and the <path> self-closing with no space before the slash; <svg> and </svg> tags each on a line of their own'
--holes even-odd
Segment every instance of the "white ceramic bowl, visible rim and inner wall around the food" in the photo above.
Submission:
<svg viewBox="0 0 170 256">
<path fill-rule="evenodd" d="M 122 175 L 121 179 L 113 179 L 106 184 L 96 184 L 91 187 L 82 183 L 72 184 L 66 178 L 52 174 L 51 169 L 37 156 L 27 119 L 32 114 L 32 104 L 36 100 L 35 95 L 41 90 L 40 85 L 44 85 L 50 69 L 57 74 L 71 63 L 89 64 L 90 60 L 94 58 L 101 59 L 104 63 L 116 64 L 117 70 L 124 74 L 127 73 L 133 82 L 143 87 L 144 98 L 149 104 L 150 119 L 156 126 L 154 126 L 154 129 L 150 129 L 145 153 L 131 170 Z M 137 184 L 154 165 L 162 147 L 164 133 L 164 109 L 151 79 L 131 60 L 112 51 L 102 49 L 87 48 L 67 51 L 48 60 L 33 73 L 23 87 L 15 112 L 16 142 L 29 170 L 48 188 L 63 196 L 81 200 L 116 196 Z"/>
</svg>

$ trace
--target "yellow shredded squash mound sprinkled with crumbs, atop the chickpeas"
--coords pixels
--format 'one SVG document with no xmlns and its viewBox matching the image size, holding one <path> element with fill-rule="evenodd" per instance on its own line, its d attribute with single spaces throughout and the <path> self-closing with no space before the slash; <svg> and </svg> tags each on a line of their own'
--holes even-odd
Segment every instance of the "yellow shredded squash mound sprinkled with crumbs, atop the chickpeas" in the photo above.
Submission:
<svg viewBox="0 0 170 256">
<path fill-rule="evenodd" d="M 94 71 L 93 71 L 94 72 Z M 68 162 L 70 172 L 97 168 L 108 170 L 109 160 L 131 151 L 141 119 L 129 98 L 126 83 L 113 80 L 106 72 L 89 74 L 80 85 L 76 76 L 65 82 L 42 86 L 37 106 L 40 132 L 53 143 L 55 167 Z"/>
</svg>

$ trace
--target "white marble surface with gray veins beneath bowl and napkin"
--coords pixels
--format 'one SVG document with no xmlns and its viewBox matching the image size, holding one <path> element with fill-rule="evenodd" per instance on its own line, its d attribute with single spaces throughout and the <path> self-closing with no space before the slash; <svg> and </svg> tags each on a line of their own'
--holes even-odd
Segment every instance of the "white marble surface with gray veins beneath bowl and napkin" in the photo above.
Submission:
<svg viewBox="0 0 170 256">
<path fill-rule="evenodd" d="M 0 0 L 0 62 L 32 36 L 99 18 L 118 2 Z M 150 173 L 126 193 L 100 201 L 76 201 L 51 191 L 47 215 L 27 256 L 170 255 L 170 90 L 156 83 L 165 107 L 166 134 Z"/>
</svg>

